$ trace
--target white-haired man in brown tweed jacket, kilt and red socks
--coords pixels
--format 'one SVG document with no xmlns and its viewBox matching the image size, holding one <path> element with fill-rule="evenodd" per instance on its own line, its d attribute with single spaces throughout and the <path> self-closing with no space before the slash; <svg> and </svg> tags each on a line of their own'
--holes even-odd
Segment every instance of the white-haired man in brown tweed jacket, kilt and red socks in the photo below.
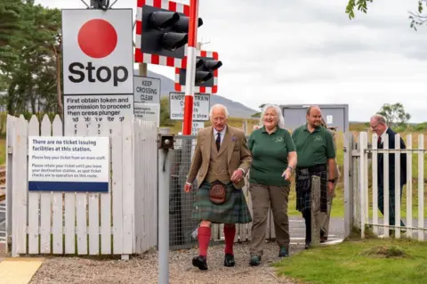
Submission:
<svg viewBox="0 0 427 284">
<path fill-rule="evenodd" d="M 236 223 L 250 223 L 252 217 L 241 191 L 245 185 L 244 176 L 252 163 L 251 151 L 247 148 L 243 131 L 227 125 L 228 111 L 221 105 L 212 107 L 209 117 L 212 126 L 205 127 L 197 134 L 197 144 L 189 168 L 185 191 L 191 191 L 197 179 L 197 201 L 193 217 L 200 220 L 197 229 L 199 256 L 192 264 L 200 270 L 207 270 L 207 248 L 211 239 L 211 223 L 224 224 L 225 256 L 224 266 L 234 266 L 233 243 Z M 214 184 L 225 189 L 222 203 L 210 198 Z"/>
</svg>

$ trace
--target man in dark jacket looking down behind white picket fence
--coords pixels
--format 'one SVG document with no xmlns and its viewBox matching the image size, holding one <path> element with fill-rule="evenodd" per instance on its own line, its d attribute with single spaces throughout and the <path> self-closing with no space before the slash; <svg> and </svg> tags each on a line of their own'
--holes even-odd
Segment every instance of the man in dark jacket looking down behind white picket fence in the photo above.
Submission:
<svg viewBox="0 0 427 284">
<path fill-rule="evenodd" d="M 378 135 L 377 148 L 383 149 L 383 141 L 388 134 L 389 149 L 395 148 L 396 133 L 387 126 L 385 118 L 381 115 L 375 115 L 370 120 L 371 129 Z M 405 142 L 400 138 L 400 149 L 406 149 Z M 407 154 L 400 154 L 400 165 L 395 165 L 394 153 L 389 154 L 389 224 L 395 225 L 395 174 L 400 172 L 400 200 L 402 197 L 403 185 L 407 183 Z M 378 157 L 378 208 L 384 214 L 384 160 L 383 154 L 377 154 Z M 405 224 L 400 220 L 400 226 Z"/>
</svg>

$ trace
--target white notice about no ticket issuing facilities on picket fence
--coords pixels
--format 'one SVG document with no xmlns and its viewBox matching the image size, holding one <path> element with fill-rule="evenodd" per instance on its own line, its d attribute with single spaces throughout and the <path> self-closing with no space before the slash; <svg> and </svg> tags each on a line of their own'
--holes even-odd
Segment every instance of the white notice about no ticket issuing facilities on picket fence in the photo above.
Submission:
<svg viewBox="0 0 427 284">
<path fill-rule="evenodd" d="M 28 191 L 109 191 L 109 137 L 28 137 Z"/>
</svg>

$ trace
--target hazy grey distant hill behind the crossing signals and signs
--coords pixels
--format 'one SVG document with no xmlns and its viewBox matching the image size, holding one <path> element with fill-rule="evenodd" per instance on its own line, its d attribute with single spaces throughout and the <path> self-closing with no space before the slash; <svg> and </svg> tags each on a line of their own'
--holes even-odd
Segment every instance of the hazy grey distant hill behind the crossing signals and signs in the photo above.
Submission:
<svg viewBox="0 0 427 284">
<path fill-rule="evenodd" d="M 138 69 L 134 69 L 133 71 L 135 75 L 139 74 Z M 175 83 L 170 78 L 151 71 L 148 71 L 147 75 L 148 77 L 156 77 L 160 79 L 162 97 L 168 97 L 170 92 L 175 92 Z M 232 118 L 251 118 L 254 113 L 258 112 L 258 110 L 252 110 L 238 101 L 232 101 L 218 94 L 211 96 L 211 105 L 214 105 L 215 103 L 221 103 L 226 106 L 227 110 L 230 112 L 230 117 Z"/>
</svg>

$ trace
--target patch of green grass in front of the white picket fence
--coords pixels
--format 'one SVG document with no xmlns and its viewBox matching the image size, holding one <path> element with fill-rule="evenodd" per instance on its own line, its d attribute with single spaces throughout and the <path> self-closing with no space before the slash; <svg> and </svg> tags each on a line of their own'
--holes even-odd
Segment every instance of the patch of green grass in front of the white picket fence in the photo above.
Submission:
<svg viewBox="0 0 427 284">
<path fill-rule="evenodd" d="M 279 275 L 318 284 L 425 283 L 427 244 L 407 239 L 348 240 L 274 264 Z"/>
</svg>

